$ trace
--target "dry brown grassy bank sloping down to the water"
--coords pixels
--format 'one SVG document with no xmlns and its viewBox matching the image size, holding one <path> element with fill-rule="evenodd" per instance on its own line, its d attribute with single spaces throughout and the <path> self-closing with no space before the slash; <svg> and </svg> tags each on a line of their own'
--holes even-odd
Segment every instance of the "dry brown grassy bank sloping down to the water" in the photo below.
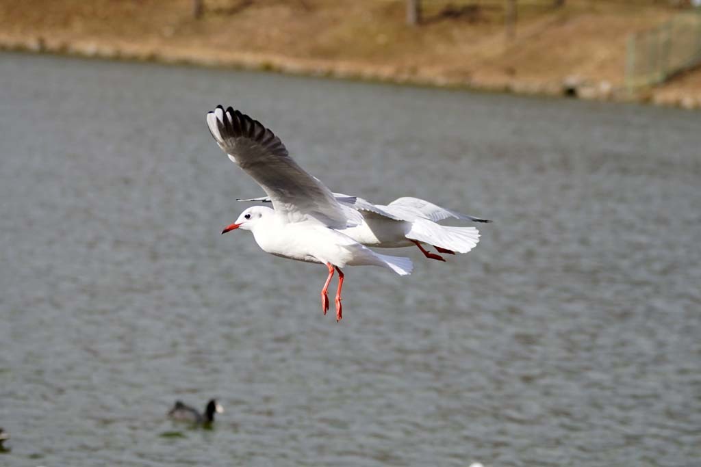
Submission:
<svg viewBox="0 0 701 467">
<path fill-rule="evenodd" d="M 0 1 L 0 47 L 86 56 L 271 69 L 558 95 L 701 106 L 701 71 L 629 95 L 625 41 L 677 12 L 665 2 L 520 1 L 515 39 L 502 1 L 404 0 Z M 452 4 L 452 5 L 451 5 Z"/>
</svg>

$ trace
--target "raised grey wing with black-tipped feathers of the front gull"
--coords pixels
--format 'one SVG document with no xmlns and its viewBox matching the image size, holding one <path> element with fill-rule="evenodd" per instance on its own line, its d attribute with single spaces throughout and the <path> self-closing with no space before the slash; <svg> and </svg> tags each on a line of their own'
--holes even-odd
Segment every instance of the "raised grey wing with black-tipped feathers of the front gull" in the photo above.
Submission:
<svg viewBox="0 0 701 467">
<path fill-rule="evenodd" d="M 207 126 L 229 159 L 263 188 L 273 208 L 287 222 L 313 218 L 332 228 L 358 222 L 348 218 L 334 195 L 290 158 L 285 145 L 259 121 L 217 106 L 207 113 Z"/>
</svg>

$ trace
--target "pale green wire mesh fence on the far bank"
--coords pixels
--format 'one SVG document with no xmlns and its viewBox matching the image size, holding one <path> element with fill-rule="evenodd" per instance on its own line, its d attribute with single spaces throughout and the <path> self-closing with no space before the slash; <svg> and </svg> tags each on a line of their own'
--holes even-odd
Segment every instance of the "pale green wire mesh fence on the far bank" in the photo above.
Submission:
<svg viewBox="0 0 701 467">
<path fill-rule="evenodd" d="M 701 64 L 701 11 L 680 13 L 659 27 L 628 37 L 625 83 L 655 85 Z"/>
</svg>

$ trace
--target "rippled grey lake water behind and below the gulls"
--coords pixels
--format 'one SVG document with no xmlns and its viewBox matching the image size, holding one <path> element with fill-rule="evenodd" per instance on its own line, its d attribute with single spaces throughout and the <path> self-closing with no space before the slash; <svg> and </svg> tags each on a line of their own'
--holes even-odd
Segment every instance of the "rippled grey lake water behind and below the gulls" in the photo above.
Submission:
<svg viewBox="0 0 701 467">
<path fill-rule="evenodd" d="M 701 113 L 0 55 L 3 466 L 698 466 Z M 219 235 L 233 105 L 309 172 L 467 214 L 414 274 Z M 335 280 L 332 291 L 335 291 Z M 226 412 L 210 430 L 176 398 Z"/>
</svg>

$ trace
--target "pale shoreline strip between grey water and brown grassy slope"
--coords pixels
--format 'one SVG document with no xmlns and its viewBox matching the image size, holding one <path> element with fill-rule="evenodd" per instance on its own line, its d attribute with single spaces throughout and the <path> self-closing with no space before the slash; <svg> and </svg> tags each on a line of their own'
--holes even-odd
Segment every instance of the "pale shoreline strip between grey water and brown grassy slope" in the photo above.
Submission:
<svg viewBox="0 0 701 467">
<path fill-rule="evenodd" d="M 163 36 L 134 36 L 132 40 L 114 36 L 87 34 L 62 34 L 45 31 L 34 34 L 24 31 L 0 32 L 0 50 L 25 53 L 51 53 L 107 60 L 156 62 L 162 64 L 188 64 L 198 67 L 273 71 L 295 76 L 373 81 L 398 85 L 419 85 L 479 92 L 503 92 L 514 95 L 564 97 L 570 99 L 605 102 L 634 102 L 658 106 L 701 109 L 701 93 L 697 89 L 677 89 L 667 92 L 665 85 L 629 92 L 620 83 L 576 74 L 554 77 L 517 77 L 514 73 L 456 73 L 440 67 L 407 67 L 388 61 L 386 64 L 372 60 L 351 58 L 294 57 L 282 53 L 258 51 L 244 52 L 230 48 L 209 47 L 207 43 L 169 40 Z M 699 69 L 690 71 L 698 74 Z M 700 74 L 701 75 L 701 74 Z M 695 75 L 694 75 L 695 76 Z M 679 79 L 679 78 L 677 78 Z"/>
</svg>

